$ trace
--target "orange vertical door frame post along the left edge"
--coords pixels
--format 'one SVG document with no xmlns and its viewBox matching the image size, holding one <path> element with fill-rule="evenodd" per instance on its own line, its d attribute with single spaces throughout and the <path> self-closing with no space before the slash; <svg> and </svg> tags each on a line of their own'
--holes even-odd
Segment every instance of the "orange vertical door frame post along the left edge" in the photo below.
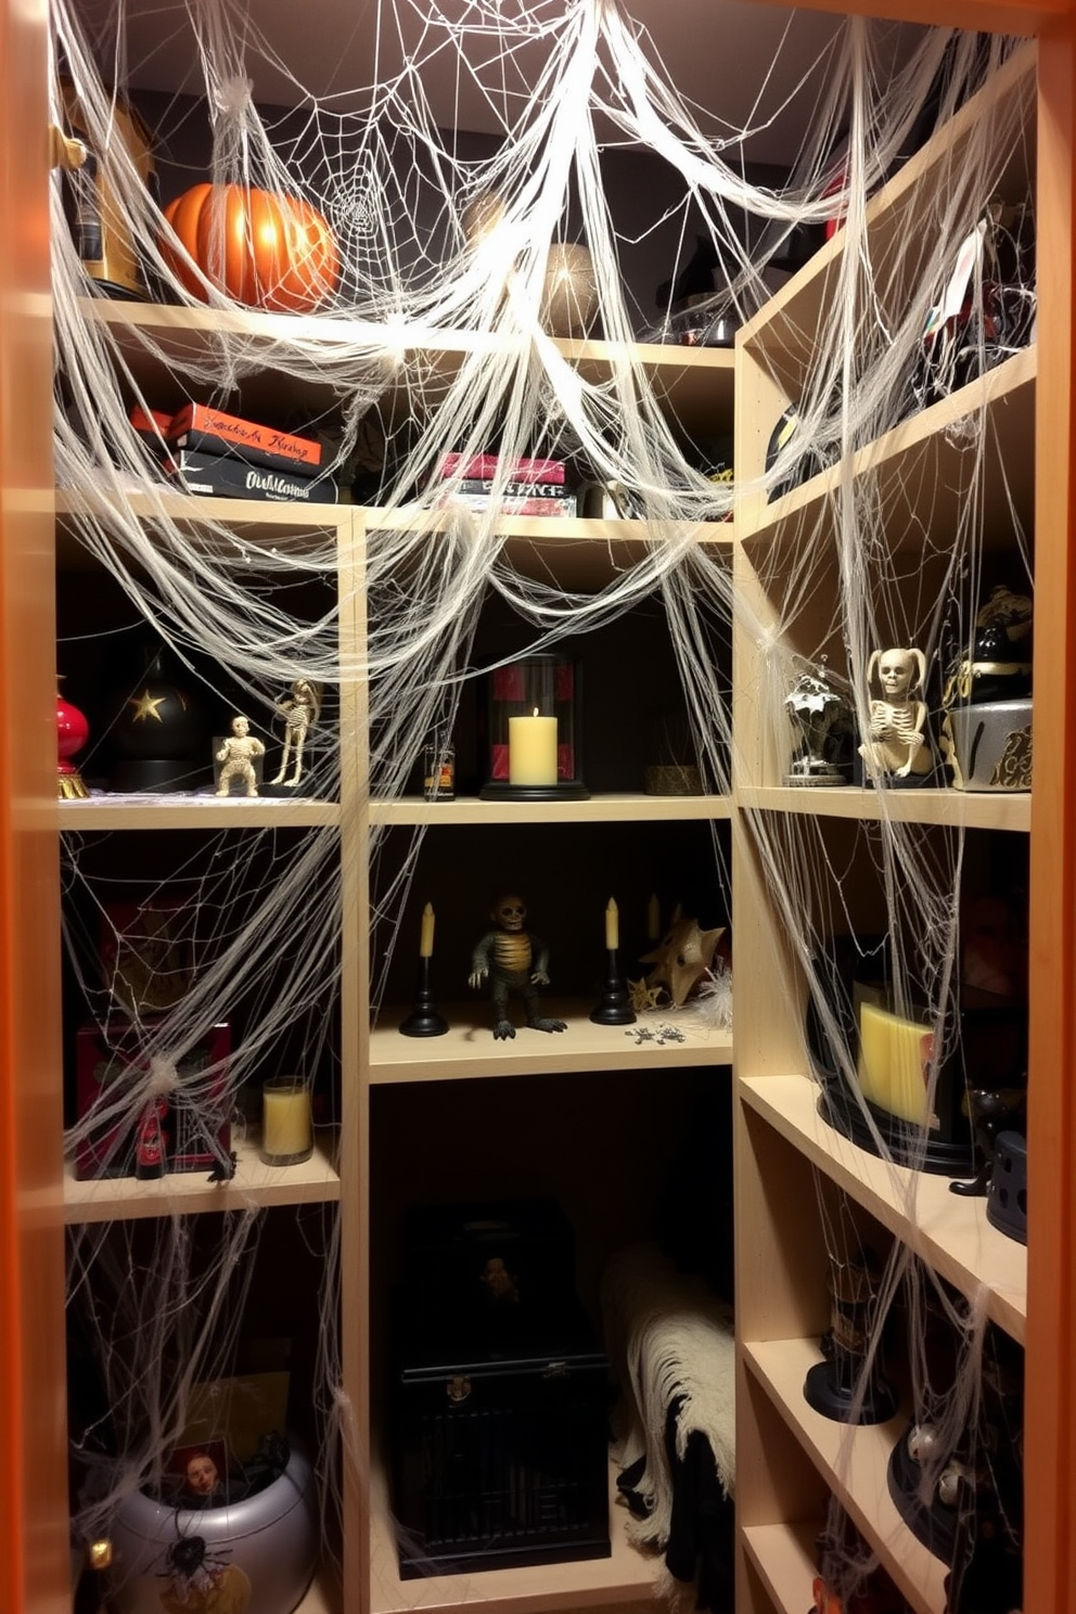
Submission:
<svg viewBox="0 0 1076 1614">
<path fill-rule="evenodd" d="M 0 1608 L 69 1614 L 47 36 L 0 5 Z"/>
</svg>

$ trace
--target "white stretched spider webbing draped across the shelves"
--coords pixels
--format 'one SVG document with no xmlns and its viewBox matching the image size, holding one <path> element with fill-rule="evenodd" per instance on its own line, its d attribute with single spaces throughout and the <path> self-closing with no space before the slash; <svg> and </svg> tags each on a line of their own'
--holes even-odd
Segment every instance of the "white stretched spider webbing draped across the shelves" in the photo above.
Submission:
<svg viewBox="0 0 1076 1614">
<path fill-rule="evenodd" d="M 298 679 L 310 679 L 324 691 L 311 755 L 318 797 L 332 802 L 345 791 L 355 801 L 358 791 L 392 801 L 411 788 L 427 736 L 450 731 L 474 700 L 478 649 L 490 617 L 511 625 L 510 649 L 494 636 L 495 660 L 574 646 L 657 610 L 676 657 L 692 760 L 708 791 L 728 792 L 734 747 L 742 744 L 729 710 L 734 620 L 745 641 L 765 650 L 761 726 L 784 754 L 792 746 L 786 697 L 803 667 L 828 659 L 863 728 L 863 671 L 873 650 L 915 644 L 937 668 L 953 646 L 968 642 L 997 570 L 981 494 L 992 463 L 986 416 L 970 416 L 950 434 L 968 462 L 970 492 L 957 531 L 932 533 L 920 500 L 915 520 L 926 528 L 916 533 L 918 547 L 892 541 L 874 479 L 845 471 L 863 444 L 923 402 L 915 395 L 923 332 L 961 244 L 986 218 L 1020 147 L 1018 119 L 966 140 L 958 169 L 939 187 L 911 276 L 905 255 L 902 292 L 897 255 L 868 237 L 870 199 L 916 142 L 1002 66 L 1011 42 L 920 31 L 894 66 L 884 29 L 863 21 L 834 27 L 799 76 L 795 94 L 810 100 L 802 119 L 810 134 L 781 176 L 758 182 L 742 139 L 774 116 L 761 110 L 766 86 L 758 86 L 749 129 L 723 123 L 719 105 L 703 111 L 689 103 L 663 68 L 660 40 L 632 21 L 629 3 L 448 10 L 434 0 L 381 0 L 366 82 L 334 81 L 315 92 L 295 82 L 244 8 L 190 0 L 176 26 L 187 31 L 197 82 L 190 95 L 165 105 L 137 89 L 142 63 L 127 42 L 137 16 L 123 5 L 108 15 L 95 10 L 87 31 L 81 13 L 61 0 L 53 6 L 55 121 L 66 124 L 74 95 L 87 145 L 106 153 L 113 223 L 134 244 L 145 300 L 181 310 L 208 305 L 218 318 L 210 337 L 189 344 L 160 323 L 136 320 L 134 336 L 121 339 L 118 323 L 87 318 L 90 287 L 65 211 L 73 181 L 55 176 L 56 476 L 77 508 L 68 525 L 95 568 L 94 600 L 100 594 L 100 605 L 61 610 L 61 671 L 69 662 L 100 673 L 113 654 L 145 639 L 165 647 L 171 676 L 206 709 L 244 710 L 256 730 L 277 738 L 277 702 Z M 784 48 L 794 50 L 795 39 L 790 18 Z M 445 61 L 457 110 L 481 103 L 484 128 L 494 129 L 481 140 L 447 132 L 447 119 L 434 111 L 429 81 L 437 66 L 444 82 Z M 265 69 L 287 87 L 287 105 L 260 102 L 255 86 Z M 177 244 L 160 203 L 115 137 L 115 108 L 127 92 L 136 105 L 142 95 L 169 131 L 173 150 L 158 153 L 158 168 L 173 192 L 202 179 L 258 187 L 302 197 L 329 221 L 339 278 L 316 318 L 298 315 L 287 329 L 277 323 L 269 339 L 255 337 L 244 308 L 202 270 L 184 261 L 177 276 Z M 200 166 L 186 155 L 190 150 L 202 153 Z M 623 224 L 608 197 L 610 158 L 626 153 L 661 166 L 653 218 L 642 223 Z M 719 547 L 697 541 L 702 523 L 731 515 L 732 483 L 715 478 L 715 455 L 668 416 L 632 349 L 640 334 L 652 334 L 655 320 L 653 307 L 644 307 L 650 289 L 628 284 L 624 265 L 661 237 L 682 268 L 695 236 L 703 258 L 718 266 L 715 286 L 726 312 L 739 321 L 781 284 L 779 265 L 795 242 L 805 234 L 815 239 L 832 220 L 845 231 L 845 252 L 831 321 L 803 370 L 800 395 L 789 400 L 795 431 L 765 476 L 749 486 L 740 475 L 736 487 L 740 499 L 766 500 L 811 470 L 837 465 L 826 513 L 832 536 L 823 541 L 805 526 L 802 542 L 786 537 L 779 554 L 753 560 L 757 594 L 734 592 Z M 579 292 L 589 308 L 586 331 L 613 353 L 603 366 L 569 362 L 547 329 L 550 249 L 581 242 L 590 276 Z M 973 299 L 982 294 L 981 263 Z M 458 362 L 440 366 L 439 349 L 458 332 L 468 334 L 457 344 Z M 982 332 L 974 342 L 982 365 Z M 281 395 L 302 400 L 277 424 L 319 436 L 332 475 L 355 504 L 384 512 L 366 523 L 361 558 L 340 557 L 316 513 L 308 529 L 297 523 L 276 534 L 268 529 L 268 537 L 202 515 L 179 520 L 156 460 L 131 426 L 134 407 L 160 407 L 153 392 L 160 383 L 147 378 L 163 374 L 173 378 L 173 391 L 236 413 L 244 412 L 245 389 L 276 376 Z M 940 373 L 932 386 L 944 394 L 961 378 Z M 524 557 L 503 541 L 494 510 L 452 502 L 458 478 L 442 478 L 445 457 L 466 462 L 490 447 L 505 465 L 521 455 L 557 455 L 587 481 L 631 491 L 637 536 L 631 546 L 610 542 L 600 586 L 558 584 L 540 546 Z M 913 483 L 918 471 L 905 475 Z M 1029 539 L 1005 486 L 989 516 L 992 533 L 1007 523 L 1005 581 L 1028 589 Z M 353 633 L 353 623 L 363 631 Z M 123 676 L 118 670 L 102 683 Z M 371 744 L 369 775 L 357 784 L 340 776 L 340 747 L 324 736 L 347 734 L 360 721 Z M 106 738 L 108 726 L 94 736 L 100 751 L 82 759 L 90 776 Z M 886 791 L 878 792 L 878 822 L 870 828 L 845 834 L 807 817 L 750 812 L 742 815 L 742 833 L 850 1091 L 857 1091 L 855 1054 L 826 985 L 834 936 L 887 931 L 897 1001 L 924 1004 L 939 1044 L 953 1036 L 965 867 L 974 863 L 987 884 L 994 878 L 1016 886 L 1005 867 L 986 873 L 979 867 L 991 857 L 1003 863 L 1002 852 L 984 852 L 963 830 L 924 838 L 890 817 Z M 127 1012 L 126 1036 L 144 1075 L 116 1091 L 105 1117 L 110 1127 L 129 1133 L 147 1102 L 168 1091 L 194 1122 L 205 1122 L 226 1172 L 229 1148 L 208 1117 L 227 1115 L 232 1135 L 242 1136 L 248 1093 L 287 1060 L 316 1072 L 319 1119 L 339 1123 L 340 889 L 353 893 L 360 878 L 347 862 L 352 843 L 342 855 L 344 833 L 324 825 L 184 831 L 181 846 L 173 838 L 161 841 L 160 854 L 140 846 L 137 855 L 110 839 L 65 838 L 73 1018 L 102 1030 L 115 1018 L 116 981 L 102 978 L 100 938 L 115 925 L 116 902 L 145 910 L 179 899 L 194 926 L 184 941 L 190 976 L 182 994 L 145 1017 Z M 407 836 L 407 846 L 402 839 L 400 831 L 371 830 L 374 1009 L 394 989 L 397 920 L 423 849 L 421 831 Z M 705 860 L 708 888 L 728 902 L 728 841 L 716 825 Z M 726 985 L 719 1001 L 710 993 L 707 1006 L 723 1025 L 731 1017 Z M 184 1059 L 221 1022 L 240 1031 L 227 1060 L 184 1077 Z M 100 1122 L 98 1112 L 94 1127 Z M 886 1157 L 887 1141 L 866 1107 L 863 1127 Z M 89 1131 L 73 1119 L 73 1157 Z M 915 1181 L 907 1193 L 915 1220 Z M 829 1217 L 823 1193 L 820 1210 Z M 211 1219 L 176 1214 L 73 1231 L 71 1314 L 79 1341 L 73 1356 L 87 1364 L 100 1391 L 97 1415 L 76 1430 L 79 1537 L 106 1530 L 132 1488 L 160 1485 L 195 1386 L 237 1370 L 261 1231 L 269 1217 L 286 1215 L 289 1236 L 316 1273 L 311 1304 L 323 1327 L 308 1362 L 305 1433 L 316 1446 L 321 1496 L 332 1512 L 340 1445 L 358 1440 L 336 1330 L 337 1217 L 329 1209 L 300 1215 L 252 1206 Z M 279 1236 L 274 1222 L 268 1243 Z M 889 1298 L 910 1293 L 911 1314 L 928 1301 L 940 1307 L 963 1341 L 960 1361 L 978 1362 L 984 1323 L 976 1307 L 965 1314 L 900 1251 L 881 1286 Z M 277 1322 L 266 1320 L 266 1328 Z M 921 1338 L 915 1330 L 910 1336 Z M 916 1407 L 929 1404 L 934 1422 L 944 1422 L 926 1353 L 913 1349 L 911 1357 Z M 961 1415 L 971 1394 L 957 1398 Z M 850 1561 L 858 1562 L 855 1553 Z"/>
</svg>

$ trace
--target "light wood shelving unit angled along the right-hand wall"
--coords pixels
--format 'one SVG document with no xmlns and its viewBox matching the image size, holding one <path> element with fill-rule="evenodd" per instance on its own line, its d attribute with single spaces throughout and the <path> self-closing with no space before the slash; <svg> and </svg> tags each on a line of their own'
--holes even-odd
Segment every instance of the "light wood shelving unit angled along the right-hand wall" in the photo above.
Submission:
<svg viewBox="0 0 1076 1614">
<path fill-rule="evenodd" d="M 1036 45 L 1021 47 L 868 207 L 871 257 L 878 255 L 881 305 L 895 313 L 923 260 L 926 218 L 961 184 L 960 165 L 973 129 L 989 129 L 999 153 L 995 194 L 1020 202 L 1034 192 Z M 1002 153 L 1007 160 L 1002 161 Z M 1028 190 L 1031 187 L 1031 192 Z M 844 250 L 839 231 L 737 336 L 736 463 L 750 484 L 763 470 L 768 433 L 805 389 L 816 337 L 831 308 Z M 979 379 L 920 410 L 866 444 L 850 463 L 815 475 L 766 504 L 749 492 L 737 504 L 734 579 L 763 623 L 776 623 L 784 557 L 832 555 L 842 492 L 871 478 L 882 512 L 879 546 L 903 573 L 928 565 L 931 546 L 957 528 L 970 458 L 960 424 L 982 431 L 984 544 L 1005 544 L 1010 499 L 1026 529 L 1034 523 L 1036 379 L 1039 352 L 1018 352 Z M 955 429 L 957 428 L 957 429 Z M 1002 492 L 1003 489 L 1003 492 Z M 865 562 L 871 565 L 871 562 Z M 889 584 L 894 586 L 892 583 Z M 823 587 L 820 597 L 826 594 Z M 821 612 L 826 610 L 824 600 Z M 792 649 L 811 654 L 828 631 L 818 607 L 782 625 Z M 839 671 L 840 646 L 826 641 Z M 853 786 L 797 789 L 782 783 L 790 734 L 763 717 L 763 650 L 736 629 L 734 642 L 734 931 L 766 967 L 737 988 L 737 1614 L 800 1614 L 810 1603 L 810 1535 L 836 1498 L 916 1614 L 942 1614 L 947 1566 L 903 1524 L 886 1482 L 890 1449 L 907 1432 L 889 1424 L 849 1425 L 821 1417 L 803 1396 L 807 1370 L 820 1362 L 829 1327 L 826 1257 L 816 1190 L 842 1193 L 970 1301 L 986 1291 L 986 1312 L 1010 1338 L 1028 1332 L 1028 1251 L 986 1220 L 982 1199 L 955 1199 L 949 1178 L 882 1162 L 829 1127 L 818 1110 L 803 1031 L 803 988 L 753 847 L 753 828 L 784 820 L 786 855 L 800 833 L 882 823 L 1028 836 L 1029 794 L 955 789 L 887 791 Z M 1036 715 L 1036 725 L 1039 717 Z M 1037 731 L 1037 728 L 1036 728 Z M 816 844 L 816 843 L 811 843 Z M 821 843 L 818 843 L 821 844 Z M 839 844 L 847 846 L 847 839 Z M 803 843 L 803 860 L 810 846 Z M 816 876 L 824 880 L 824 873 Z M 882 920 L 882 928 L 887 926 Z M 1032 1072 L 1032 1081 L 1034 1081 Z M 774 1185 L 781 1183 L 776 1191 Z M 811 1220 L 816 1227 L 811 1228 Z M 803 1469 L 803 1459 L 807 1467 Z M 789 1485 L 782 1466 L 797 1478 Z M 795 1467 L 799 1464 L 799 1467 Z M 797 1520 L 800 1527 L 797 1528 Z"/>
</svg>

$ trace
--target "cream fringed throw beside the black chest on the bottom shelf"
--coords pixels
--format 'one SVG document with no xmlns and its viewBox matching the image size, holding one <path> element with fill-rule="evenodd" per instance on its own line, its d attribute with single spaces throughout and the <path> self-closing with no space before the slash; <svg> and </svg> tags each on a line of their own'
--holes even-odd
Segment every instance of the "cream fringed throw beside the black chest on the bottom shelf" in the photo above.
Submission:
<svg viewBox="0 0 1076 1614">
<path fill-rule="evenodd" d="M 669 1406 L 681 1399 L 676 1454 L 702 1433 L 721 1486 L 736 1488 L 736 1353 L 732 1309 L 702 1278 L 686 1277 L 657 1244 L 615 1256 L 602 1278 L 607 1344 L 624 1391 L 628 1427 L 621 1467 L 645 1457 L 632 1490 L 647 1503 L 645 1519 L 631 1519 L 631 1540 L 668 1543 L 673 1478 L 665 1430 Z"/>
</svg>

